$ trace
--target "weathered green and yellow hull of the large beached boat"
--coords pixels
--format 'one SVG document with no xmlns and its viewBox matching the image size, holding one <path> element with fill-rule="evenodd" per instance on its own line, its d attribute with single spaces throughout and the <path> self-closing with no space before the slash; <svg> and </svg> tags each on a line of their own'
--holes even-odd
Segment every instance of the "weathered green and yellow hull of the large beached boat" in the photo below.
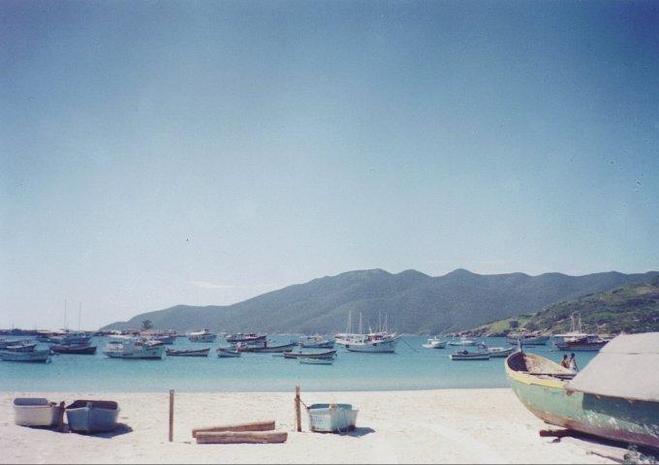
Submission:
<svg viewBox="0 0 659 465">
<path fill-rule="evenodd" d="M 518 354 L 511 355 L 512 357 Z M 659 448 L 659 403 L 570 393 L 565 382 L 510 368 L 506 374 L 517 398 L 546 423 L 606 439 Z"/>
</svg>

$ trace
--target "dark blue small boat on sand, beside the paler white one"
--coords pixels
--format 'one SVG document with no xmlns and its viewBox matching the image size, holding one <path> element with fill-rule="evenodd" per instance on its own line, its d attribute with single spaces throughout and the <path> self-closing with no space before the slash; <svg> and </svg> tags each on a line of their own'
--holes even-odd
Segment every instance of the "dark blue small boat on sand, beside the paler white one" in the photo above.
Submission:
<svg viewBox="0 0 659 465">
<path fill-rule="evenodd" d="M 76 400 L 66 407 L 71 431 L 82 434 L 103 433 L 117 427 L 119 405 L 109 400 Z"/>
</svg>

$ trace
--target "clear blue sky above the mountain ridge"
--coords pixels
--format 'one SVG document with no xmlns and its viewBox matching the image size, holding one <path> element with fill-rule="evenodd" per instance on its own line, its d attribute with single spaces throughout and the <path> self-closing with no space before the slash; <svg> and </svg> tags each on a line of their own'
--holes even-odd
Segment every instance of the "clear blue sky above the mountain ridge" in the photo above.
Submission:
<svg viewBox="0 0 659 465">
<path fill-rule="evenodd" d="M 4 0 L 0 327 L 354 269 L 659 269 L 657 24 L 652 1 Z"/>
</svg>

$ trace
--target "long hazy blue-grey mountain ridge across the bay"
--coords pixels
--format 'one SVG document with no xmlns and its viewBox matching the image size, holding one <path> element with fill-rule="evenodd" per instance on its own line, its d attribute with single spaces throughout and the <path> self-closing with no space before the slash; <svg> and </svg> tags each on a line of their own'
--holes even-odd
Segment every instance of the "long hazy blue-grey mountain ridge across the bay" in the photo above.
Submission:
<svg viewBox="0 0 659 465">
<path fill-rule="evenodd" d="M 103 330 L 140 328 L 151 320 L 155 328 L 179 332 L 213 331 L 269 333 L 334 333 L 363 314 L 365 327 L 378 314 L 403 333 L 436 334 L 474 328 L 485 322 L 533 313 L 545 306 L 626 284 L 650 282 L 659 272 L 596 273 L 567 276 L 547 273 L 479 275 L 455 270 L 431 277 L 414 270 L 391 274 L 384 270 L 350 271 L 254 297 L 229 306 L 177 305 L 143 313 Z M 356 324 L 355 324 L 356 326 Z"/>
</svg>

